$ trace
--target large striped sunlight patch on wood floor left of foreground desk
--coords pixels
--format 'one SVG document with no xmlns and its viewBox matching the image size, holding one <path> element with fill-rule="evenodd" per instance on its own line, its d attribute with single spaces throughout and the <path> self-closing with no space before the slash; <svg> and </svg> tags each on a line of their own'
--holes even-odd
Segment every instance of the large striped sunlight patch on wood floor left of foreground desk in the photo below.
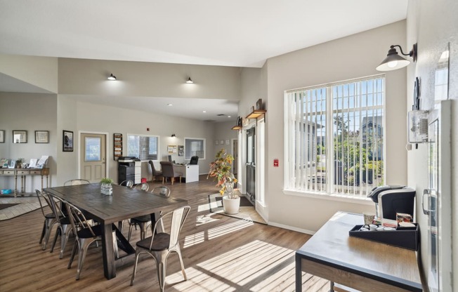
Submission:
<svg viewBox="0 0 458 292">
<path fill-rule="evenodd" d="M 294 291 L 294 272 L 294 251 L 256 240 L 186 269 L 188 281 L 176 272 L 167 282 L 177 291 Z"/>
</svg>

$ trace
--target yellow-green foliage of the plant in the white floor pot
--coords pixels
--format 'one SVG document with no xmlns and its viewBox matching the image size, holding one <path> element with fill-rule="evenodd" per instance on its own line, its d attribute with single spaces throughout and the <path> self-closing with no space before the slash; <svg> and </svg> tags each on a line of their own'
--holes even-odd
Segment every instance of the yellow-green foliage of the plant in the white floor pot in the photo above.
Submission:
<svg viewBox="0 0 458 292">
<path fill-rule="evenodd" d="M 208 178 L 214 178 L 218 183 L 217 187 L 220 187 L 219 193 L 221 196 L 226 192 L 230 199 L 235 199 L 237 197 L 233 192 L 233 184 L 237 183 L 237 178 L 234 177 L 234 174 L 230 171 L 234 157 L 221 149 L 216 153 L 215 161 L 210 164 L 210 171 L 207 175 Z"/>
</svg>

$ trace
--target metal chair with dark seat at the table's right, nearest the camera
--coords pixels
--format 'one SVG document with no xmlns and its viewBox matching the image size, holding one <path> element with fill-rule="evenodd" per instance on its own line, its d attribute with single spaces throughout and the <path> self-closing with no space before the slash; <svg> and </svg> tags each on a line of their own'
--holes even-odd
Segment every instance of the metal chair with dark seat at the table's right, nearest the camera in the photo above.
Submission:
<svg viewBox="0 0 458 292">
<path fill-rule="evenodd" d="M 180 236 L 181 228 L 183 223 L 185 223 L 186 217 L 190 211 L 190 206 L 184 206 L 181 208 L 176 208 L 174 211 L 162 215 L 152 227 L 152 236 L 140 240 L 136 244 L 135 252 L 135 265 L 133 266 L 133 273 L 131 279 L 131 286 L 133 286 L 133 279 L 135 278 L 138 256 L 141 253 L 148 253 L 156 261 L 157 269 L 157 279 L 159 280 L 159 288 L 161 292 L 164 291 L 165 284 L 165 272 L 166 272 L 166 263 L 167 258 L 170 253 L 177 253 L 178 259 L 181 264 L 181 272 L 183 272 L 183 277 L 185 280 L 188 280 L 185 273 L 185 267 L 183 265 L 183 258 L 181 258 L 180 244 L 178 242 L 178 237 Z M 170 218 L 167 220 L 168 225 L 164 222 L 164 218 Z M 156 234 L 157 227 L 159 225 L 165 225 L 166 229 L 164 232 L 158 232 Z"/>
</svg>

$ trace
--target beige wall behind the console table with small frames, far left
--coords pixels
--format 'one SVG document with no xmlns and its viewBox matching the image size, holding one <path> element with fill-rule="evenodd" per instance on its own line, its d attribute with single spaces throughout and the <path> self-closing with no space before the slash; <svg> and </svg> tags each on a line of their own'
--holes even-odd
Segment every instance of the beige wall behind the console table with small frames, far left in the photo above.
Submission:
<svg viewBox="0 0 458 292">
<path fill-rule="evenodd" d="M 57 145 L 60 139 L 55 124 L 56 100 L 55 94 L 0 92 L 0 130 L 5 130 L 5 142 L 0 143 L 0 158 L 25 158 L 29 163 L 32 158 L 49 155 L 47 166 L 51 171 L 51 184 L 57 174 Z M 27 143 L 14 144 L 13 130 L 27 131 Z M 49 143 L 35 143 L 35 131 L 49 131 Z M 0 176 L 0 189 L 4 188 L 14 189 L 14 179 Z M 41 188 L 41 177 L 27 176 L 25 191 L 34 192 L 35 188 Z"/>
</svg>

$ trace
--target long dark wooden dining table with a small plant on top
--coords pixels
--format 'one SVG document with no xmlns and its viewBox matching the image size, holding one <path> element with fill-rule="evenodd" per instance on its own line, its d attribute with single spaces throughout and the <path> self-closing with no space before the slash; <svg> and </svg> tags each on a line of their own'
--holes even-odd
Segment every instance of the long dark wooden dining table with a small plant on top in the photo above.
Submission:
<svg viewBox="0 0 458 292">
<path fill-rule="evenodd" d="M 188 205 L 188 201 L 161 197 L 157 194 L 134 190 L 130 187 L 113 185 L 113 194 L 100 193 L 100 183 L 86 185 L 70 185 L 65 187 L 48 187 L 44 192 L 74 204 L 91 218 L 103 225 L 102 251 L 103 272 L 107 279 L 116 277 L 117 260 L 135 253 L 135 249 L 117 230 L 114 223 L 140 215 L 154 214 L 159 211 L 167 212 Z M 153 219 L 154 220 L 154 219 Z M 126 252 L 124 257 L 114 258 L 113 228 L 116 230 L 118 246 Z M 132 257 L 133 258 L 133 257 Z"/>
</svg>

